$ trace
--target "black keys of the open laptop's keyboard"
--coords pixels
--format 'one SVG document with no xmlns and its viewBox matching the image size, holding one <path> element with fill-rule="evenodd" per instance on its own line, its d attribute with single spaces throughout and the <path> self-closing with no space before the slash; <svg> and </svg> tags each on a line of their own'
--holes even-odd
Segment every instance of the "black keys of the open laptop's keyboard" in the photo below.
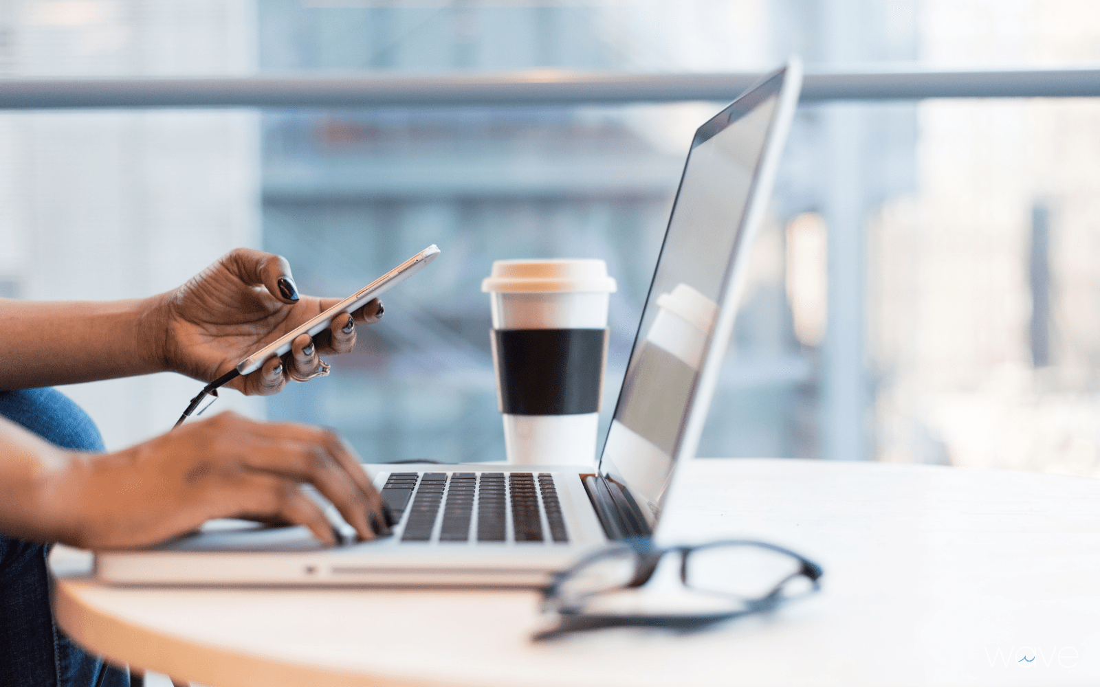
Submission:
<svg viewBox="0 0 1100 687">
<path fill-rule="evenodd" d="M 549 473 L 508 473 L 507 480 L 505 473 L 391 473 L 382 496 L 398 521 L 409 511 L 402 542 L 430 542 L 436 521 L 441 520 L 440 542 L 469 542 L 473 534 L 477 542 L 503 543 L 508 541 L 508 514 L 513 541 L 569 541 Z"/>
</svg>

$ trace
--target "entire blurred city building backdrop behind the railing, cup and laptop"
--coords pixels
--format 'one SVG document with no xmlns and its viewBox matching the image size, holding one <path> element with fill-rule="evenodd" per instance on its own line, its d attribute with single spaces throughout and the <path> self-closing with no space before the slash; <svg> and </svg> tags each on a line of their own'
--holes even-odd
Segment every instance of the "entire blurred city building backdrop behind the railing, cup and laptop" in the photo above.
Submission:
<svg viewBox="0 0 1100 687">
<path fill-rule="evenodd" d="M 0 77 L 1060 66 L 1100 59 L 1098 13 L 10 0 Z M 499 457 L 492 261 L 608 261 L 609 414 L 692 132 L 723 104 L 2 113 L 0 297 L 144 296 L 242 244 L 343 295 L 439 243 L 331 377 L 218 403 L 333 424 L 367 459 Z M 800 107 L 701 453 L 1098 474 L 1098 118 L 1091 99 Z M 65 390 L 120 447 L 170 426 L 197 384 Z"/>
</svg>

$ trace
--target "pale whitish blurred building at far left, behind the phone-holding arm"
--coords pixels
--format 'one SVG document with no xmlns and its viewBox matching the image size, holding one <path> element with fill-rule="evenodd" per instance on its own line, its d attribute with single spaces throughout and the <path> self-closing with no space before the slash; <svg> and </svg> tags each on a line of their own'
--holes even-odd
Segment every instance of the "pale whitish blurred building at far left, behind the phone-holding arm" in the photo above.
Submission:
<svg viewBox="0 0 1100 687">
<path fill-rule="evenodd" d="M 0 74 L 248 74 L 255 34 L 248 2 L 9 0 Z M 258 245 L 258 173 L 254 112 L 2 112 L 0 297 L 118 299 L 178 286 L 226 251 Z M 63 390 L 120 448 L 169 429 L 198 388 L 163 374 Z M 222 406 L 264 412 L 237 394 Z"/>
</svg>

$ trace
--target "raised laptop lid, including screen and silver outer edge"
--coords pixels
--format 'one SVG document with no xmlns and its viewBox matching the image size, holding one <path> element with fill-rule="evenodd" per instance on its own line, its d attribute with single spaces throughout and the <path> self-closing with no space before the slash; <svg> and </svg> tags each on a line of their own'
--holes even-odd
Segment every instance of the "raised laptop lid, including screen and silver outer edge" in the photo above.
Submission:
<svg viewBox="0 0 1100 687">
<path fill-rule="evenodd" d="M 698 444 L 802 86 L 791 58 L 695 132 L 600 459 L 656 529 Z"/>
</svg>

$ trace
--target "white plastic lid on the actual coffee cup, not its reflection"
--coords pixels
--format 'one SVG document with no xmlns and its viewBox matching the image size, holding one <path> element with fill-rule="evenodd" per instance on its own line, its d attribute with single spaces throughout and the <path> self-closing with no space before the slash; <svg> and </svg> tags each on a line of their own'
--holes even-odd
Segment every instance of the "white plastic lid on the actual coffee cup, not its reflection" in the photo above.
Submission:
<svg viewBox="0 0 1100 687">
<path fill-rule="evenodd" d="M 600 259 L 496 261 L 482 281 L 482 291 L 495 293 L 539 293 L 584 291 L 610 293 L 615 279 Z"/>
</svg>

